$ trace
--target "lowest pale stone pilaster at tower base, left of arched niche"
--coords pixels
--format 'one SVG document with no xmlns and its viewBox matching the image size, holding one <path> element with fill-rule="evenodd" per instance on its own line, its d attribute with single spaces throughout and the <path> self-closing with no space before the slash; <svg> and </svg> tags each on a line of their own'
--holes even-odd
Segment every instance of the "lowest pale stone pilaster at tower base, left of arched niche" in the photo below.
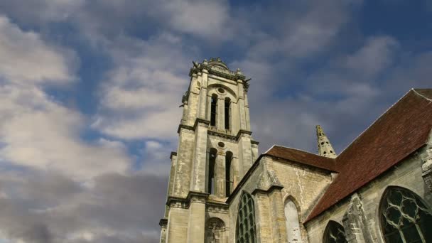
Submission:
<svg viewBox="0 0 432 243">
<path fill-rule="evenodd" d="M 205 200 L 207 195 L 190 193 L 189 219 L 188 219 L 188 243 L 202 243 L 205 238 Z"/>
</svg>

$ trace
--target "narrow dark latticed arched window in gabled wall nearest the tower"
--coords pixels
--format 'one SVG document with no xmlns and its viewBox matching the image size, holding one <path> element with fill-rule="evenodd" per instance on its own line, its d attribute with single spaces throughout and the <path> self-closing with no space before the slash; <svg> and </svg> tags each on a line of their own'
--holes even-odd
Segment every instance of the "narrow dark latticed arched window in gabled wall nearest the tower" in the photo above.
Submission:
<svg viewBox="0 0 432 243">
<path fill-rule="evenodd" d="M 237 215 L 236 243 L 256 243 L 254 199 L 243 193 Z"/>
</svg>

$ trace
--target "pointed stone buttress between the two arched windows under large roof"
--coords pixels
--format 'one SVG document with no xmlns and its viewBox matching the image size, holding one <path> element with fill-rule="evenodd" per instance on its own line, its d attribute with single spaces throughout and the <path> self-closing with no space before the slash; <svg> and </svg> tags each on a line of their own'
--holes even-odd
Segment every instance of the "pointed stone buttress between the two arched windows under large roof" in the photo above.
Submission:
<svg viewBox="0 0 432 243">
<path fill-rule="evenodd" d="M 347 242 L 372 242 L 369 229 L 367 228 L 367 221 L 365 217 L 365 212 L 363 211 L 362 202 L 357 193 L 352 195 L 347 212 L 345 212 L 345 215 L 342 218 L 342 223 L 345 229 Z"/>
</svg>

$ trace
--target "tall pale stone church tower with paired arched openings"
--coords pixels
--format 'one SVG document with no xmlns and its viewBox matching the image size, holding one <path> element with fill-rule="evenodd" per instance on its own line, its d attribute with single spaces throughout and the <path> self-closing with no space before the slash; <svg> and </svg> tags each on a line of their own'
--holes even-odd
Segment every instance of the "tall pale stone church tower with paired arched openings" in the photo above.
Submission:
<svg viewBox="0 0 432 243">
<path fill-rule="evenodd" d="M 229 70 L 220 58 L 193 62 L 189 76 L 178 148 L 170 157 L 161 242 L 202 243 L 207 234 L 222 239 L 224 226 L 206 225 L 206 215 L 227 207 L 227 197 L 258 156 L 249 120 L 250 79 L 239 69 Z"/>
</svg>

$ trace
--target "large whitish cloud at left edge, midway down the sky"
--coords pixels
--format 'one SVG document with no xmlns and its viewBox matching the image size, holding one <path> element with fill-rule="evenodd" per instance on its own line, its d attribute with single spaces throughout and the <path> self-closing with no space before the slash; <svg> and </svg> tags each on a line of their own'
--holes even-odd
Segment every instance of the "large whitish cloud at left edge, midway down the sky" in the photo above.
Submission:
<svg viewBox="0 0 432 243">
<path fill-rule="evenodd" d="M 0 87 L 0 113 L 0 158 L 4 162 L 78 178 L 124 172 L 129 166 L 118 142 L 82 141 L 84 117 L 53 102 L 36 87 Z"/>
</svg>

